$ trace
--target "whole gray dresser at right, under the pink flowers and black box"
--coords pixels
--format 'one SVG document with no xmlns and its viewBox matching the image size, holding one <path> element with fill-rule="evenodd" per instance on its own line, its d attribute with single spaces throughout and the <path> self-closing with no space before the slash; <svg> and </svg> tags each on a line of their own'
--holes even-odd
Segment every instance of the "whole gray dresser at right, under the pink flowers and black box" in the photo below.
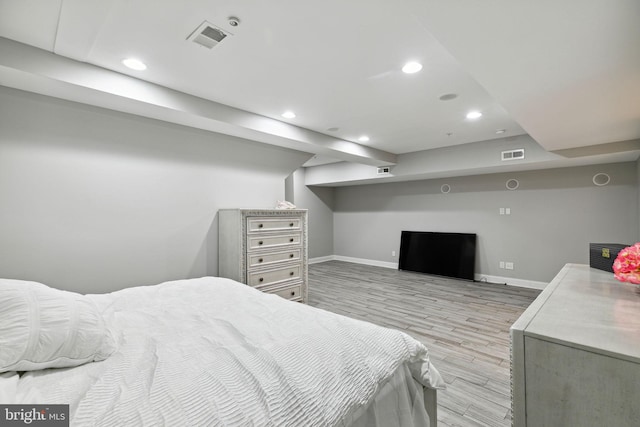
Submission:
<svg viewBox="0 0 640 427">
<path fill-rule="evenodd" d="M 567 264 L 511 327 L 512 425 L 640 426 L 640 288 Z"/>
</svg>

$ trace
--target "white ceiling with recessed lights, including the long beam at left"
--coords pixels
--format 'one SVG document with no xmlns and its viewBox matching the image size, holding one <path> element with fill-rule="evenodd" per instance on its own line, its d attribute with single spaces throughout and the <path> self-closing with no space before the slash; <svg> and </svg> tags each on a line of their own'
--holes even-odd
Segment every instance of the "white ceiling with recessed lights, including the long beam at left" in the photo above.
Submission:
<svg viewBox="0 0 640 427">
<path fill-rule="evenodd" d="M 211 50 L 187 41 L 205 20 L 233 35 Z M 85 101 L 43 84 L 45 75 L 64 92 L 89 88 L 128 103 L 105 100 L 108 108 L 286 140 L 320 163 L 394 163 L 525 133 L 566 150 L 640 139 L 638 22 L 638 0 L 0 0 L 0 37 L 63 57 L 56 74 L 29 68 L 24 58 L 36 53 L 7 48 L 14 57 L 0 57 L 0 84 Z M 148 69 L 124 67 L 131 56 Z M 402 73 L 408 60 L 423 70 Z M 136 95 L 149 105 L 133 106 L 122 85 L 89 81 L 102 70 L 80 75 L 77 62 L 192 97 L 154 85 L 155 99 Z M 448 93 L 458 97 L 439 99 Z M 180 114 L 151 112 L 167 103 Z M 282 118 L 285 110 L 297 117 Z M 466 119 L 470 110 L 482 118 Z M 359 143 L 364 134 L 370 141 Z"/>
</svg>

